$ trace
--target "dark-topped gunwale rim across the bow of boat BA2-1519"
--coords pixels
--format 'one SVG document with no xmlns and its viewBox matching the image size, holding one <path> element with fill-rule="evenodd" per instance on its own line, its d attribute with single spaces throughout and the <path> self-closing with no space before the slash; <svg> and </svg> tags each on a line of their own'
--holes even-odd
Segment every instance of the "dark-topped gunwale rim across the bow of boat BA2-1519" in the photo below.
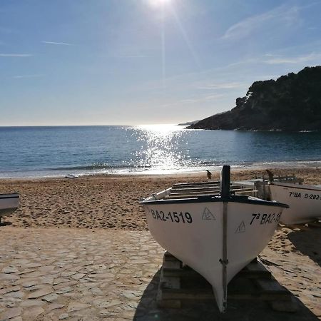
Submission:
<svg viewBox="0 0 321 321">
<path fill-rule="evenodd" d="M 139 202 L 142 205 L 150 205 L 150 204 L 182 204 L 182 203 L 215 203 L 215 202 L 231 202 L 231 203 L 244 203 L 244 204 L 257 204 L 257 205 L 267 205 L 267 206 L 277 206 L 281 208 L 289 208 L 289 205 L 284 203 L 278 203 L 270 200 L 260 200 L 259 198 L 248 198 L 248 196 L 242 195 L 231 195 L 227 198 L 222 198 L 221 196 L 214 195 L 206 195 L 198 198 L 173 198 L 164 200 L 163 198 L 160 200 L 142 200 Z"/>
</svg>

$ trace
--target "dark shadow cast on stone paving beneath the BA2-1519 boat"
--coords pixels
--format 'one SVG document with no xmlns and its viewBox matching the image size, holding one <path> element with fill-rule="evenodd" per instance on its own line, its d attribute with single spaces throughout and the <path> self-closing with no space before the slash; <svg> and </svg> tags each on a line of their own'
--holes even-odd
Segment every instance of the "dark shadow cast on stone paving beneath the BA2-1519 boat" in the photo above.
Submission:
<svg viewBox="0 0 321 321">
<path fill-rule="evenodd" d="M 143 292 L 133 320 L 136 321 L 318 321 L 305 305 L 297 301 L 297 312 L 277 312 L 259 300 L 228 300 L 228 312 L 221 314 L 213 300 L 183 302 L 180 309 L 158 307 L 156 295 L 161 270 L 158 270 Z"/>
</svg>

